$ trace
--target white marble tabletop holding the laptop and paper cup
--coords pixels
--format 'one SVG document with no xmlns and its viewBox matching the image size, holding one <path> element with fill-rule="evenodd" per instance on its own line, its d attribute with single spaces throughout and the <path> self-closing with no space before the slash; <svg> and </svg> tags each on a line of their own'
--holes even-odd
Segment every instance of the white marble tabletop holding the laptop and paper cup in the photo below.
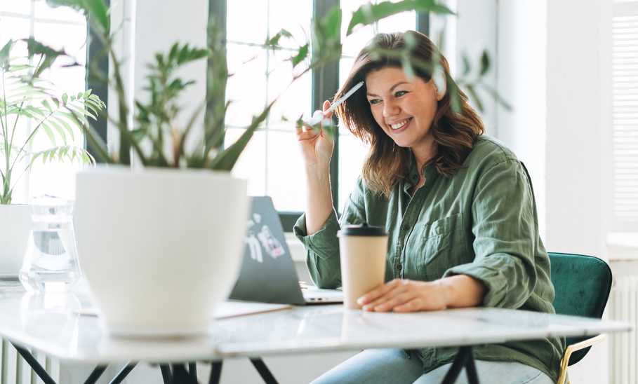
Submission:
<svg viewBox="0 0 638 384">
<path fill-rule="evenodd" d="M 57 359 L 189 362 L 364 348 L 463 346 L 629 331 L 630 324 L 522 310 L 467 308 L 431 313 L 364 313 L 340 305 L 307 306 L 211 321 L 199 338 L 124 339 L 102 332 L 73 294 L 0 294 L 0 336 Z"/>
</svg>

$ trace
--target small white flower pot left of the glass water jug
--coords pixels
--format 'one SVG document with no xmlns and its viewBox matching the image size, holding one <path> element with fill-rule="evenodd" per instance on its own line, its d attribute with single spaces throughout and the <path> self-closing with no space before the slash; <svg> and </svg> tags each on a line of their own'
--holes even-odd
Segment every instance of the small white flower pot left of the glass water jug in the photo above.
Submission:
<svg viewBox="0 0 638 384">
<path fill-rule="evenodd" d="M 29 205 L 0 205 L 0 275 L 17 276 L 31 231 Z"/>
</svg>

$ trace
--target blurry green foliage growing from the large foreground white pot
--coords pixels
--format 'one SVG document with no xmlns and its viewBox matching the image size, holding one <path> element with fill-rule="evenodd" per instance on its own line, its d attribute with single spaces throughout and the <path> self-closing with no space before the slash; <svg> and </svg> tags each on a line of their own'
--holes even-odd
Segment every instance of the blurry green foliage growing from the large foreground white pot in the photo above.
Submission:
<svg viewBox="0 0 638 384">
<path fill-rule="evenodd" d="M 109 78 L 97 69 L 91 68 L 93 76 L 108 81 L 110 87 L 117 92 L 117 117 L 107 116 L 102 112 L 102 117 L 107 118 L 119 132 L 119 148 L 109 153 L 105 142 L 97 135 L 96 131 L 88 125 L 83 125 L 88 142 L 95 148 L 95 156 L 104 163 L 131 164 L 131 151 L 144 166 L 154 167 L 190 167 L 208 168 L 211 170 L 232 170 L 239 155 L 246 148 L 253 133 L 267 118 L 270 109 L 277 97 L 267 104 L 261 111 L 253 116 L 253 120 L 243 135 L 236 142 L 224 148 L 225 114 L 230 102 L 226 101 L 226 83 L 229 74 L 225 53 L 225 41 L 223 34 L 211 20 L 208 30 L 208 47 L 194 48 L 187 44 L 174 43 L 168 53 L 157 53 L 152 63 L 148 65 L 147 87 L 149 101 L 135 101 L 133 113 L 133 126 L 128 123 L 131 114 L 126 104 L 126 93 L 122 81 L 122 60 L 114 51 L 114 33 L 109 23 L 108 7 L 102 0 L 47 0 L 51 6 L 70 6 L 81 11 L 95 20 L 92 27 L 98 39 L 104 44 L 102 55 L 108 55 L 113 63 L 113 76 Z M 406 11 L 430 12 L 440 15 L 454 15 L 446 6 L 437 4 L 434 0 L 404 0 L 398 2 L 383 1 L 378 4 L 365 4 L 352 14 L 348 23 L 347 36 L 358 27 L 370 25 L 391 15 Z M 314 69 L 320 69 L 330 62 L 335 62 L 341 57 L 342 41 L 340 36 L 342 11 L 340 8 L 332 8 L 324 18 L 313 20 L 311 36 L 298 46 L 296 52 L 289 57 L 291 71 L 297 72 L 291 76 L 291 83 Z M 279 49 L 281 39 L 291 39 L 290 32 L 282 29 L 279 33 L 265 41 L 264 47 Z M 408 44 L 401 52 L 393 52 L 404 62 L 408 74 L 414 67 L 420 67 L 432 73 L 436 69 L 437 60 L 432 62 L 418 62 L 409 55 L 412 46 Z M 379 53 L 383 53 L 379 50 Z M 44 45 L 29 46 L 29 55 L 42 55 L 46 62 L 55 60 L 62 55 Z M 201 100 L 197 108 L 187 118 L 185 126 L 177 123 L 182 106 L 178 104 L 178 98 L 193 81 L 185 80 L 177 76 L 175 72 L 185 64 L 198 60 L 208 60 L 206 72 L 206 98 Z M 452 94 L 453 107 L 458 107 L 458 86 L 466 89 L 474 99 L 477 107 L 482 110 L 482 103 L 477 94 L 477 88 L 484 88 L 498 98 L 496 92 L 484 83 L 484 75 L 489 71 L 490 60 L 487 53 L 481 56 L 480 70 L 477 76 L 472 75 L 470 60 L 463 57 L 463 76 L 456 83 L 448 78 L 448 89 Z M 502 102 L 502 100 L 500 100 Z M 189 138 L 193 136 L 194 125 L 198 124 L 198 117 L 205 111 L 203 135 L 197 135 L 194 146 L 187 146 Z M 69 109 L 72 116 L 78 119 L 82 116 L 77 111 Z M 193 140 L 191 140 L 193 141 Z"/>
</svg>

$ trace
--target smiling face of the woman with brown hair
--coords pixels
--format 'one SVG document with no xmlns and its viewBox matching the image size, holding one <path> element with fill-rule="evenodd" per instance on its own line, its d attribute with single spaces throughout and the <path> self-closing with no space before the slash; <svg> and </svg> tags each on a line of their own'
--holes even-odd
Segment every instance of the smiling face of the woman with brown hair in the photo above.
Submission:
<svg viewBox="0 0 638 384">
<path fill-rule="evenodd" d="M 440 100 L 433 81 L 408 80 L 403 69 L 385 67 L 366 76 L 366 88 L 372 116 L 398 146 L 416 152 L 431 147 L 430 126 Z"/>
</svg>

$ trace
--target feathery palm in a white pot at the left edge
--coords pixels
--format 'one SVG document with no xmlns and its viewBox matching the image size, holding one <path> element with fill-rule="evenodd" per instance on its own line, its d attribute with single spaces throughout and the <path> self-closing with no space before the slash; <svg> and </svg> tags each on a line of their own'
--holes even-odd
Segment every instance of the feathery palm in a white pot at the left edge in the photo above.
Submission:
<svg viewBox="0 0 638 384">
<path fill-rule="evenodd" d="M 41 78 L 52 62 L 41 60 L 34 65 L 27 57 L 12 56 L 18 43 L 25 41 L 10 40 L 0 49 L 0 274 L 13 276 L 20 270 L 31 225 L 29 206 L 12 204 L 15 186 L 36 160 L 92 163 L 91 155 L 72 143 L 82 132 L 81 125 L 87 125 L 87 119 L 95 118 L 104 107 L 91 90 L 56 94 L 54 85 Z M 27 122 L 31 123 L 29 131 Z M 32 151 L 39 136 L 46 137 L 50 146 Z"/>
</svg>

